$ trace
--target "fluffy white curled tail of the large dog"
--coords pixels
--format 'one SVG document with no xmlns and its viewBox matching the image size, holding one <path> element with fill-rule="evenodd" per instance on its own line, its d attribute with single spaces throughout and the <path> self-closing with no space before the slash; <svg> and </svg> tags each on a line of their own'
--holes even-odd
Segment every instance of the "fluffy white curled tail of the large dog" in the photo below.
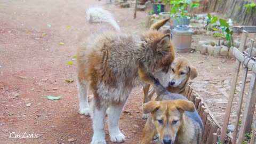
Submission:
<svg viewBox="0 0 256 144">
<path fill-rule="evenodd" d="M 108 23 L 109 25 L 113 26 L 116 30 L 120 30 L 117 22 L 113 15 L 107 11 L 102 9 L 102 7 L 91 7 L 86 11 L 87 21 L 89 22 L 102 22 Z"/>
</svg>

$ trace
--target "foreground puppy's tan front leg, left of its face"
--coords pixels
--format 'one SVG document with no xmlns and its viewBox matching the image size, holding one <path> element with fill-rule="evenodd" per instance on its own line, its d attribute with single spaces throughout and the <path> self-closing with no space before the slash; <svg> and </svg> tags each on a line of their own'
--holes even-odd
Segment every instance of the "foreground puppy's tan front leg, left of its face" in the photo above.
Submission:
<svg viewBox="0 0 256 144">
<path fill-rule="evenodd" d="M 149 117 L 142 131 L 141 140 L 139 144 L 148 144 L 156 134 L 156 128 L 151 122 L 151 118 Z"/>
</svg>

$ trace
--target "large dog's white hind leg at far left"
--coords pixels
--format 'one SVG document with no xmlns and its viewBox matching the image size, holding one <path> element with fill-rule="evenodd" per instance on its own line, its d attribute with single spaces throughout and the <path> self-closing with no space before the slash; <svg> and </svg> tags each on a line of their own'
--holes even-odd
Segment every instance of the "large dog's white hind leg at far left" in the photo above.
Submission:
<svg viewBox="0 0 256 144">
<path fill-rule="evenodd" d="M 86 82 L 77 83 L 78 98 L 79 98 L 79 113 L 85 116 L 90 115 L 90 107 L 89 107 L 88 98 L 87 98 L 88 88 L 89 86 L 86 84 Z"/>
</svg>

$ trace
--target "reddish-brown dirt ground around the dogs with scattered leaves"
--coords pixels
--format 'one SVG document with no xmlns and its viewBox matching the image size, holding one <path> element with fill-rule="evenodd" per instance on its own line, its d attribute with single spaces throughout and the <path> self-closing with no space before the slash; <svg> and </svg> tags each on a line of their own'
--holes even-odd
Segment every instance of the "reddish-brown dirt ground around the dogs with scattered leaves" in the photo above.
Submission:
<svg viewBox="0 0 256 144">
<path fill-rule="evenodd" d="M 127 33 L 147 30 L 146 12 L 138 11 L 134 20 L 133 8 L 121 9 L 114 4 L 106 5 L 105 1 L 1 1 L 0 143 L 90 143 L 91 119 L 78 114 L 76 82 L 65 80 L 76 79 L 76 61 L 74 65 L 67 62 L 76 54 L 77 37 L 86 23 L 86 9 L 93 5 L 111 11 Z M 193 45 L 201 38 L 194 37 Z M 229 93 L 234 60 L 199 53 L 181 55 L 198 68 L 194 89 L 222 121 L 225 114 L 220 111 L 225 102 L 220 102 L 220 106 L 212 102 L 227 101 L 222 93 L 225 90 L 218 89 L 225 88 Z M 49 100 L 46 95 L 63 97 Z M 142 95 L 142 87 L 137 87 L 125 106 L 119 124 L 126 135 L 124 143 L 140 140 L 146 122 L 142 119 Z M 112 143 L 107 129 L 106 133 L 107 143 Z M 15 134 L 38 134 L 38 139 L 12 139 Z"/>
</svg>

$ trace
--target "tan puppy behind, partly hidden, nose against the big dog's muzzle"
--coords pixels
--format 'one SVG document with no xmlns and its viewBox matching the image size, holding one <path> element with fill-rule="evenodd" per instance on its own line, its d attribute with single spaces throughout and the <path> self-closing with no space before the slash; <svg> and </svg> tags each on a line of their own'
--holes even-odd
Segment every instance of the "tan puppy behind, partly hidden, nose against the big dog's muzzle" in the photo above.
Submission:
<svg viewBox="0 0 256 144">
<path fill-rule="evenodd" d="M 161 73 L 163 74 L 163 73 Z M 186 58 L 175 58 L 172 62 L 169 74 L 170 74 L 170 81 L 165 77 L 161 77 L 161 74 L 157 75 L 160 83 L 166 87 L 166 89 L 171 93 L 179 93 L 184 95 L 186 91 L 186 87 L 188 84 L 188 80 L 194 79 L 197 77 L 197 69 L 192 66 L 188 59 Z M 156 75 L 155 75 L 156 76 Z M 143 103 L 146 103 L 151 100 L 155 93 L 155 89 L 151 87 L 149 90 L 150 84 L 147 84 L 143 87 L 144 92 L 144 100 Z M 149 91 L 149 92 L 148 92 Z M 147 119 L 149 114 L 143 114 L 143 119 Z"/>
</svg>

